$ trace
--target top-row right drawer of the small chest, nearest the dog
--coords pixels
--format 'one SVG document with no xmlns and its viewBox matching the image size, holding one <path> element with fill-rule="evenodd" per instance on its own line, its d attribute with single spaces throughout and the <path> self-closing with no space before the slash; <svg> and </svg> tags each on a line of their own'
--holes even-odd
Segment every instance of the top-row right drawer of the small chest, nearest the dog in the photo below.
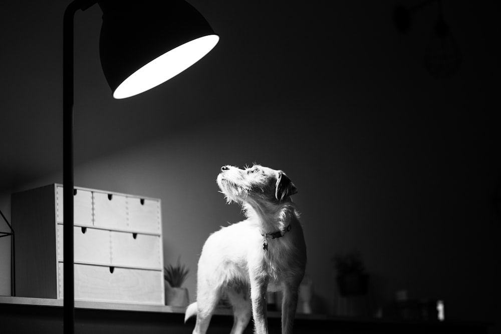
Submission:
<svg viewBox="0 0 501 334">
<path fill-rule="evenodd" d="M 160 203 L 158 201 L 127 197 L 127 206 L 131 230 L 160 233 Z"/>
</svg>

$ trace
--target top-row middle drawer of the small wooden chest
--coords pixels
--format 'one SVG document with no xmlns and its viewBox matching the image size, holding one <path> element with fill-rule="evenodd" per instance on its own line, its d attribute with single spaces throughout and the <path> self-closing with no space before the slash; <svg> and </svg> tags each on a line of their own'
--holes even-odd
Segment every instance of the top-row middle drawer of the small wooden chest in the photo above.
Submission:
<svg viewBox="0 0 501 334">
<path fill-rule="evenodd" d="M 94 226 L 127 228 L 127 197 L 94 192 Z"/>
</svg>

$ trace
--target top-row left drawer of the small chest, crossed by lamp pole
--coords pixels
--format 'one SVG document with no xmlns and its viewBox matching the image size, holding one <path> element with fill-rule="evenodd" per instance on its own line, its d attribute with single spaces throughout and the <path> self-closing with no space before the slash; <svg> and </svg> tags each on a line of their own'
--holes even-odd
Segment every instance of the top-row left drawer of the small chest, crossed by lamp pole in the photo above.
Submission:
<svg viewBox="0 0 501 334">
<path fill-rule="evenodd" d="M 74 223 L 92 226 L 92 192 L 77 189 L 73 196 Z M 57 221 L 63 223 L 63 187 L 57 187 Z"/>
</svg>

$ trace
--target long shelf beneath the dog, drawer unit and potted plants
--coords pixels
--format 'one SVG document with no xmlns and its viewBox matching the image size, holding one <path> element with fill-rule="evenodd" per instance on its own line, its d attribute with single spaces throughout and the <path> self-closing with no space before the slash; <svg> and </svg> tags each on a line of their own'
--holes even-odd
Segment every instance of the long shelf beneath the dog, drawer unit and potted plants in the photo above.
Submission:
<svg viewBox="0 0 501 334">
<path fill-rule="evenodd" d="M 19 332 L 62 333 L 63 300 L 0 296 L 2 334 Z M 191 333 L 194 318 L 184 323 L 184 307 L 75 300 L 76 332 L 107 334 Z M 280 312 L 268 312 L 270 331 L 280 332 Z M 229 332 L 233 322 L 230 309 L 219 309 L 209 331 Z M 252 333 L 253 321 L 244 333 Z M 298 313 L 294 332 L 312 333 L 471 333 L 487 334 L 492 323 L 482 321 L 411 321 L 386 318 L 335 317 Z"/>
</svg>

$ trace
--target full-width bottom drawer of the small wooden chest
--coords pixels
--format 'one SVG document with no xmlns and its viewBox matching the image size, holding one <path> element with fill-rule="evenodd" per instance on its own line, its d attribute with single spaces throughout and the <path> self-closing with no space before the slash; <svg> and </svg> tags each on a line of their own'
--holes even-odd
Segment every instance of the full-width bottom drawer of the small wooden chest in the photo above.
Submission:
<svg viewBox="0 0 501 334">
<path fill-rule="evenodd" d="M 64 298 L 63 265 L 59 262 L 59 298 Z M 163 305 L 162 271 L 75 264 L 75 299 Z"/>
</svg>

